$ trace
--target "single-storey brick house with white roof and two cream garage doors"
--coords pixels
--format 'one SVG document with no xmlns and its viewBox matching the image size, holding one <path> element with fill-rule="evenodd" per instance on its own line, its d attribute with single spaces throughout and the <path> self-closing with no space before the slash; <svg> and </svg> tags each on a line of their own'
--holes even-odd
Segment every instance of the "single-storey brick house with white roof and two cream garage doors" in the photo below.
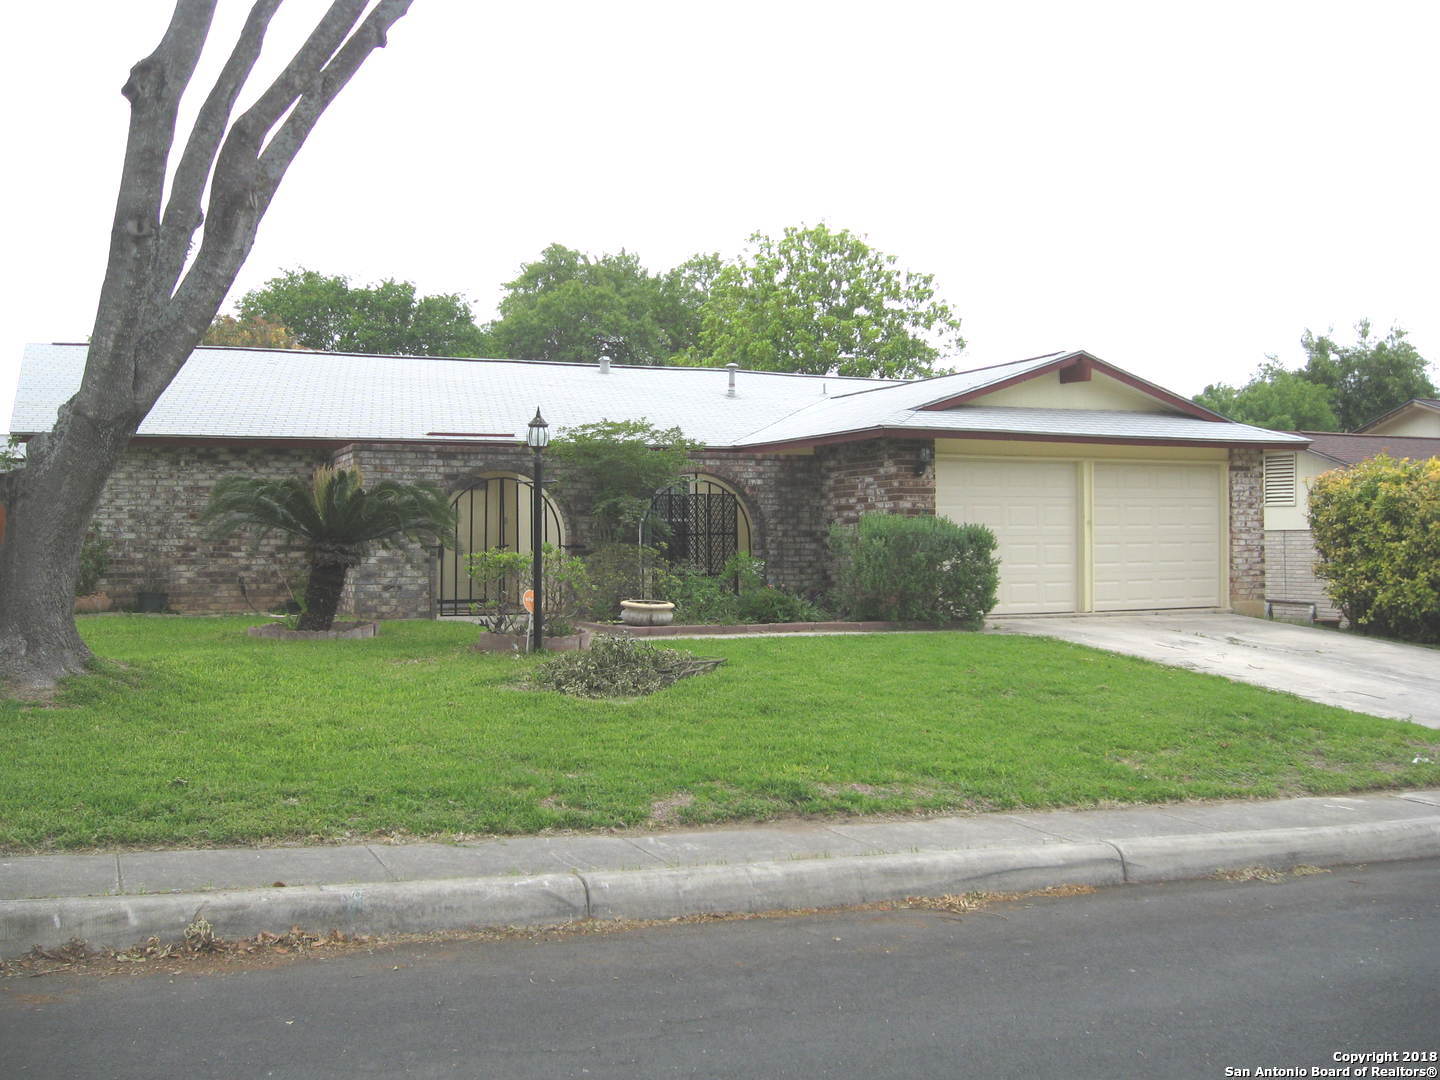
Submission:
<svg viewBox="0 0 1440 1080">
<path fill-rule="evenodd" d="M 48 431 L 85 346 L 30 346 L 12 429 Z M 1234 423 L 1084 353 L 916 382 L 694 367 L 202 347 L 141 425 L 96 520 L 118 539 L 111 595 L 163 585 L 180 611 L 274 602 L 274 547 L 204 537 L 220 475 L 321 462 L 432 481 L 461 513 L 455 552 L 383 553 L 351 575 L 356 615 L 459 612 L 461 556 L 528 544 L 526 422 L 680 426 L 704 449 L 661 500 L 687 557 L 749 550 L 772 582 L 819 590 L 832 523 L 865 511 L 979 521 L 999 539 L 999 613 L 1264 606 L 1261 459 L 1305 435 Z M 586 507 L 549 500 L 546 534 L 589 543 Z M 161 580 L 163 579 L 163 580 Z"/>
</svg>

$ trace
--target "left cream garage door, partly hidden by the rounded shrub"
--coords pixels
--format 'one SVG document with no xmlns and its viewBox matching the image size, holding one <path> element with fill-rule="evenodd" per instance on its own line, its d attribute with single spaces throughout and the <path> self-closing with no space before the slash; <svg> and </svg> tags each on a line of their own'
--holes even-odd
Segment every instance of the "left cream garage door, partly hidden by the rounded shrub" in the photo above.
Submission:
<svg viewBox="0 0 1440 1080">
<path fill-rule="evenodd" d="M 1001 557 L 996 615 L 1076 609 L 1074 462 L 940 458 L 935 487 L 937 514 L 995 531 Z"/>
</svg>

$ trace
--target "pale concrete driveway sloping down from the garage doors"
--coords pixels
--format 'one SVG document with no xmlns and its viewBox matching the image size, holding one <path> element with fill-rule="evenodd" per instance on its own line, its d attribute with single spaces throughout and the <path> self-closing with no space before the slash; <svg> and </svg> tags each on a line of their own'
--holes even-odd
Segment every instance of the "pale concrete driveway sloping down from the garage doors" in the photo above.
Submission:
<svg viewBox="0 0 1440 1080">
<path fill-rule="evenodd" d="M 1440 727 L 1440 651 L 1241 615 L 996 616 L 1034 634 Z"/>
</svg>

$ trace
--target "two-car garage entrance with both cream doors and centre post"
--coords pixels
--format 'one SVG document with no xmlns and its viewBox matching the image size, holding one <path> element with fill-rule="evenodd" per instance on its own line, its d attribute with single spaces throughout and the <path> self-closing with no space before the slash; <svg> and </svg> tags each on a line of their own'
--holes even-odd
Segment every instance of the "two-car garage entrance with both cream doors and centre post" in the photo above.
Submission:
<svg viewBox="0 0 1440 1080">
<path fill-rule="evenodd" d="M 1223 477 L 1217 465 L 940 456 L 936 513 L 995 530 L 996 615 L 1214 608 Z"/>
</svg>

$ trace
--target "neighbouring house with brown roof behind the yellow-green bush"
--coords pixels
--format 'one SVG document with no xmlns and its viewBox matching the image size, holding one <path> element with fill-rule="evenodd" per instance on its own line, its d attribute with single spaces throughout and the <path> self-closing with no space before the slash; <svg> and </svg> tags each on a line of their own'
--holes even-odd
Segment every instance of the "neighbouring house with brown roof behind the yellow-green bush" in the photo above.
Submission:
<svg viewBox="0 0 1440 1080">
<path fill-rule="evenodd" d="M 1414 400 L 1387 416 L 1404 419 Z M 1310 441 L 1306 449 L 1273 449 L 1264 455 L 1264 573 L 1266 600 L 1277 615 L 1305 613 L 1312 619 L 1339 619 L 1325 582 L 1315 576 L 1315 543 L 1310 537 L 1309 491 L 1322 472 L 1348 468 L 1381 454 L 1391 458 L 1440 456 L 1440 403 L 1434 410 L 1434 436 L 1293 432 Z M 1385 418 L 1381 418 L 1384 420 Z M 1424 420 L 1424 415 L 1410 418 Z M 1381 423 L 1374 420 L 1367 428 Z"/>
</svg>

